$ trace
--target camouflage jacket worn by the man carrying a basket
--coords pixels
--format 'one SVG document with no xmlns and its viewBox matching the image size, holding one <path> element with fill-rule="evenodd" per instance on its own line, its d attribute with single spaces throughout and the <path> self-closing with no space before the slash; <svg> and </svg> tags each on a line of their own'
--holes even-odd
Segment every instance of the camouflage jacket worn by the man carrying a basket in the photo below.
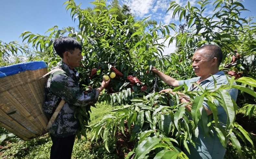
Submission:
<svg viewBox="0 0 256 159">
<path fill-rule="evenodd" d="M 99 93 L 97 90 L 92 90 L 84 94 L 78 86 L 78 72 L 75 69 L 71 70 L 66 63 L 61 61 L 52 69 L 56 68 L 64 72 L 57 71 L 49 74 L 45 86 L 43 111 L 50 119 L 61 99 L 64 99 L 65 104 L 49 131 L 55 137 L 67 137 L 75 134 L 79 127 L 79 121 L 74 117 L 75 108 L 95 104 Z"/>
</svg>

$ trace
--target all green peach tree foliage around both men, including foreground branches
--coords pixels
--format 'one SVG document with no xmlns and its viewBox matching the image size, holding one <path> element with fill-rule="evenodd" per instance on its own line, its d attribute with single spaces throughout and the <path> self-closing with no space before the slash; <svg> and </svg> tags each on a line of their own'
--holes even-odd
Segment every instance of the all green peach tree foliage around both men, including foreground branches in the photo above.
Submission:
<svg viewBox="0 0 256 159">
<path fill-rule="evenodd" d="M 205 8 L 210 2 L 200 0 L 197 3 L 201 5 L 200 8 L 191 6 L 190 2 L 184 7 L 175 2 L 170 3 L 168 11 L 173 10 L 173 18 L 178 17 L 180 22 L 185 23 L 178 29 L 174 23 L 160 23 L 157 26 L 153 20 L 146 21 L 147 18 L 136 20 L 130 14 L 128 6 L 121 7 L 115 0 L 112 1 L 112 6 L 106 6 L 106 1 L 96 0 L 92 2 L 95 5 L 93 9 L 81 9 L 80 5 L 70 0 L 64 5 L 67 5 L 66 10 L 70 11 L 72 19 L 79 20 L 78 30 L 71 27 L 58 29 L 54 26 L 46 31 L 49 36 L 25 31 L 21 37 L 23 41 L 31 43 L 34 49 L 46 52 L 43 60 L 48 62 L 49 67 L 60 61 L 52 48 L 56 38 L 70 36 L 78 40 L 83 47 L 84 60 L 77 70 L 80 73 L 80 86 L 84 89 L 88 85 L 99 87 L 102 75 L 110 74 L 114 69 L 123 74 L 111 79 L 99 102 L 107 101 L 111 105 L 118 103 L 125 106 L 114 110 L 116 114 L 107 115 L 91 126 L 92 140 L 103 135 L 108 151 L 110 134 L 114 135 L 116 131 L 124 134 L 124 122 L 127 120 L 128 127 L 133 127 L 130 141 L 136 141 L 134 150 L 127 158 L 161 158 L 167 155 L 186 158 L 180 150 L 181 143 L 186 149 L 186 141 L 195 144 L 192 135 L 198 135 L 197 125 L 202 128 L 205 136 L 211 135 L 211 130 L 217 131 L 224 147 L 230 138 L 239 155 L 242 155 L 237 137 L 243 142 L 245 139 L 250 143 L 252 141 L 250 135 L 234 121 L 238 106 L 245 104 L 245 115 L 251 115 L 255 111 L 255 23 L 251 22 L 252 18 L 240 17 L 240 11 L 246 10 L 240 1 L 216 0 L 213 3 L 213 14 L 207 16 Z M 150 27 L 147 28 L 148 26 Z M 176 34 L 172 35 L 172 31 Z M 160 40 L 163 42 L 159 43 Z M 176 41 L 177 50 L 163 56 L 166 41 L 169 41 L 169 45 Z M 153 88 L 154 91 L 160 91 L 169 87 L 157 80 L 155 74 L 151 74 L 149 70 L 152 66 L 178 80 L 191 78 L 194 76 L 191 67 L 192 53 L 209 43 L 222 48 L 224 56 L 220 70 L 236 78 L 244 76 L 236 80 L 238 85 L 231 85 L 233 77 L 231 84 L 217 90 L 190 92 L 185 85 L 175 88 L 191 98 L 191 113 L 185 110 L 184 103 L 179 103 L 178 95 L 151 93 Z M 8 47 L 5 46 L 7 50 Z M 9 48 L 15 50 L 16 47 Z M 92 74 L 92 70 L 96 70 L 96 73 Z M 232 74 L 230 71 L 233 71 Z M 140 82 L 131 83 L 128 76 L 136 77 Z M 230 88 L 240 90 L 238 106 L 225 90 Z M 202 106 L 205 98 L 213 112 L 210 117 L 207 117 Z M 218 121 L 214 100 L 219 101 L 228 115 L 226 128 Z M 79 112 L 81 134 L 86 135 L 89 109 Z M 193 120 L 189 120 L 189 117 Z"/>
</svg>

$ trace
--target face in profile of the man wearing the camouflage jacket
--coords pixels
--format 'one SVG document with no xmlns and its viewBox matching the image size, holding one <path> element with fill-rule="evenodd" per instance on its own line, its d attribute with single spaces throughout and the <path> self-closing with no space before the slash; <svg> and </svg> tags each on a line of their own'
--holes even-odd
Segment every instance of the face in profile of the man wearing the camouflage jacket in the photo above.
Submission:
<svg viewBox="0 0 256 159">
<path fill-rule="evenodd" d="M 82 52 L 79 49 L 75 49 L 73 53 L 69 54 L 68 63 L 71 69 L 73 69 L 74 67 L 78 67 L 80 65 L 80 62 L 83 59 L 83 56 L 81 53 Z"/>
</svg>

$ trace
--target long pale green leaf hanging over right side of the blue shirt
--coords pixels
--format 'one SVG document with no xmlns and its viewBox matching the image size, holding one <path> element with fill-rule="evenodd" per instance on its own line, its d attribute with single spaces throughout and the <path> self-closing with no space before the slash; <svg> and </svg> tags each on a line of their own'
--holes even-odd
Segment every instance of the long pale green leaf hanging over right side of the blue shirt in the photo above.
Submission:
<svg viewBox="0 0 256 159">
<path fill-rule="evenodd" d="M 231 126 L 231 124 L 236 119 L 236 111 L 233 106 L 233 102 L 231 100 L 229 93 L 226 90 L 218 90 L 218 93 L 222 100 L 222 107 L 224 108 L 225 112 L 227 113 L 227 128 L 226 128 L 226 130 L 228 130 L 229 127 Z"/>
</svg>

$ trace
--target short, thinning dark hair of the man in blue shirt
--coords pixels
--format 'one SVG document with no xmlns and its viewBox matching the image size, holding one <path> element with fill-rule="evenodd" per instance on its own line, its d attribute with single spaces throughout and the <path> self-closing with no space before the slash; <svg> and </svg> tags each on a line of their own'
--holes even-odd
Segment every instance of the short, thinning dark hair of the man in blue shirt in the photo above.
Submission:
<svg viewBox="0 0 256 159">
<path fill-rule="evenodd" d="M 206 51 L 203 54 L 203 56 L 207 59 L 207 61 L 210 61 L 216 57 L 217 64 L 219 66 L 222 61 L 222 57 L 223 57 L 223 52 L 221 51 L 221 48 L 218 45 L 207 44 L 207 45 L 201 46 L 196 51 L 200 51 L 203 49 L 205 49 L 205 51 Z"/>
</svg>

